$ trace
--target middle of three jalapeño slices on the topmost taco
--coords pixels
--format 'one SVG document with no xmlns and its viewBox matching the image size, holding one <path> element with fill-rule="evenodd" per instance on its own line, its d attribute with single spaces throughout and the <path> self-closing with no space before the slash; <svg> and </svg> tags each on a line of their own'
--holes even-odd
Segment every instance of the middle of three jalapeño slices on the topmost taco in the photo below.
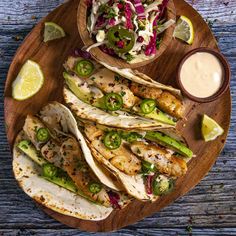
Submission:
<svg viewBox="0 0 236 236">
<path fill-rule="evenodd" d="M 105 107 L 109 111 L 117 111 L 123 105 L 123 99 L 118 93 L 108 93 L 104 97 Z"/>
</svg>

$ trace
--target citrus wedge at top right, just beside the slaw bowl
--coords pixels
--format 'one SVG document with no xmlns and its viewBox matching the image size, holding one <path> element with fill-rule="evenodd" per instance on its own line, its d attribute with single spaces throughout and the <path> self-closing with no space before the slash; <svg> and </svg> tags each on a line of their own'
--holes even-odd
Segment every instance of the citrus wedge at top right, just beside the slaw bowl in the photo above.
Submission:
<svg viewBox="0 0 236 236">
<path fill-rule="evenodd" d="M 194 29 L 189 18 L 186 16 L 180 16 L 175 27 L 174 37 L 181 39 L 188 44 L 193 43 Z"/>
</svg>

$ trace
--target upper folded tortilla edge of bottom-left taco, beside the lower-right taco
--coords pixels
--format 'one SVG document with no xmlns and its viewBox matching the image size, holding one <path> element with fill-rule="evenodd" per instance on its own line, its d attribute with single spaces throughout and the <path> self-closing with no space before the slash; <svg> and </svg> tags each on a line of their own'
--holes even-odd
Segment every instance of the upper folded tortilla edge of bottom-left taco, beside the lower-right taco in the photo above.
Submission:
<svg viewBox="0 0 236 236">
<path fill-rule="evenodd" d="M 122 190 L 117 180 L 114 178 L 112 179 L 110 173 L 94 161 L 91 151 L 87 146 L 86 140 L 82 133 L 79 131 L 77 127 L 77 122 L 74 116 L 72 115 L 71 111 L 67 107 L 58 102 L 51 102 L 40 111 L 40 118 L 46 124 L 50 124 L 51 126 L 55 126 L 56 123 L 60 120 L 60 123 L 63 124 L 63 131 L 65 133 L 68 133 L 69 131 L 77 138 L 83 151 L 85 160 L 87 161 L 95 175 L 98 177 L 98 179 L 104 185 L 113 190 Z"/>
</svg>

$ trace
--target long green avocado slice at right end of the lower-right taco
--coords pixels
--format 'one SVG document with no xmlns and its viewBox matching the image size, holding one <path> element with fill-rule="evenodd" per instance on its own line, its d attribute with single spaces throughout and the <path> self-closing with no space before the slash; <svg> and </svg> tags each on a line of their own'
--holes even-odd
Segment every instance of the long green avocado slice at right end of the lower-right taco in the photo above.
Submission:
<svg viewBox="0 0 236 236">
<path fill-rule="evenodd" d="M 185 157 L 191 158 L 193 156 L 193 152 L 188 147 L 186 147 L 185 144 L 163 133 L 148 131 L 145 135 L 145 138 L 167 148 L 173 149 L 174 151 Z"/>
</svg>

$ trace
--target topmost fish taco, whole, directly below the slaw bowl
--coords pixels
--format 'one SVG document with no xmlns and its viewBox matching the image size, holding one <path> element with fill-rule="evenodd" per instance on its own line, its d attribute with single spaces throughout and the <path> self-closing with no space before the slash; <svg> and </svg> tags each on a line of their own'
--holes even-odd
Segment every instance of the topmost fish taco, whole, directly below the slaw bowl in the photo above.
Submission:
<svg viewBox="0 0 236 236">
<path fill-rule="evenodd" d="M 73 56 L 64 67 L 64 99 L 81 119 L 118 128 L 160 129 L 175 127 L 184 116 L 179 90 L 138 71 Z"/>
</svg>

